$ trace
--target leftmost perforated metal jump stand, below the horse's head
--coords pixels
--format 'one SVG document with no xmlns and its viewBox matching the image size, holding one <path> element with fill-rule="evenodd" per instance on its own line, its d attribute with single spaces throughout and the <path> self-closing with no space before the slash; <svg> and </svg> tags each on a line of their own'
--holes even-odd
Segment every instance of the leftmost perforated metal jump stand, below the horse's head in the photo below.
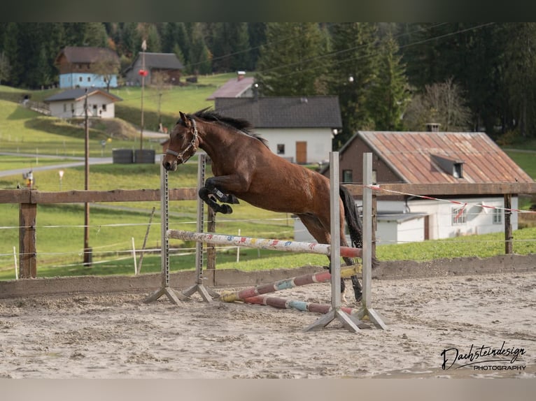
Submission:
<svg viewBox="0 0 536 401">
<path fill-rule="evenodd" d="M 182 293 L 172 289 L 169 286 L 169 240 L 167 238 L 168 231 L 168 217 L 169 217 L 169 189 L 167 180 L 167 170 L 160 163 L 160 234 L 162 240 L 162 250 L 160 251 L 160 277 L 161 286 L 160 289 L 150 294 L 144 302 L 149 303 L 157 300 L 162 295 L 166 295 L 167 298 L 175 305 L 179 305 L 181 300 L 186 297 Z"/>
</svg>

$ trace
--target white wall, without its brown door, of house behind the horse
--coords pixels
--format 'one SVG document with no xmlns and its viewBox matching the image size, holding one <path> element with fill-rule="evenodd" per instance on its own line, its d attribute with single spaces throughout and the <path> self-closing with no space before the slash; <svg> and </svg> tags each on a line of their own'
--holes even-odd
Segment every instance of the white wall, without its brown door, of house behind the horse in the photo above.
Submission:
<svg viewBox="0 0 536 401">
<path fill-rule="evenodd" d="M 296 143 L 307 143 L 307 163 L 319 163 L 330 159 L 332 150 L 330 129 L 255 129 L 268 141 L 272 152 L 277 154 L 277 145 L 285 145 L 285 154 L 279 154 L 296 162 Z"/>
</svg>

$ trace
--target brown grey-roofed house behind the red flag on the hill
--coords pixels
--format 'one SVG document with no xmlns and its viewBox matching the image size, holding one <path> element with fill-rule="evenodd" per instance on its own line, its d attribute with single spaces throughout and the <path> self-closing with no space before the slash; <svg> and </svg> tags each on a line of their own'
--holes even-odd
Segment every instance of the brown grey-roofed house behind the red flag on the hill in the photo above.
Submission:
<svg viewBox="0 0 536 401">
<path fill-rule="evenodd" d="M 127 85 L 141 86 L 143 75 L 146 85 L 179 85 L 183 68 L 175 53 L 140 52 L 124 74 Z"/>
</svg>

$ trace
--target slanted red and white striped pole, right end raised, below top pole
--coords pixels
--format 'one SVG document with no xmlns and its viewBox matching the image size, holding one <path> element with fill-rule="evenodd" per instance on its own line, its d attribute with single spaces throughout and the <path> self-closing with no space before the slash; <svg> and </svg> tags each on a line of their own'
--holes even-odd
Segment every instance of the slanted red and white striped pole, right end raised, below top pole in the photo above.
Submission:
<svg viewBox="0 0 536 401">
<path fill-rule="evenodd" d="M 354 265 L 352 267 L 342 269 L 341 277 L 348 278 L 358 274 L 359 272 L 361 272 L 361 265 Z M 245 302 L 249 302 L 249 298 L 255 298 L 262 294 L 274 293 L 276 291 L 281 291 L 285 289 L 292 289 L 294 287 L 304 286 L 306 284 L 329 282 L 330 279 L 331 274 L 328 271 L 311 273 L 307 275 L 292 277 L 290 279 L 279 280 L 278 282 L 274 282 L 271 284 L 261 284 L 260 286 L 249 287 L 241 291 L 222 293 L 220 295 L 220 300 L 223 300 L 225 302 L 234 302 L 237 300 L 244 300 Z"/>
</svg>

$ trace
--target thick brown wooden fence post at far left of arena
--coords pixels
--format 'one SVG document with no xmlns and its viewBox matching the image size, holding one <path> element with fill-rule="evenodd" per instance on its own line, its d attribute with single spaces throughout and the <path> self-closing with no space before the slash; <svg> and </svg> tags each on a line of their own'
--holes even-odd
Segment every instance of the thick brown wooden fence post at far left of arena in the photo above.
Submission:
<svg viewBox="0 0 536 401">
<path fill-rule="evenodd" d="M 19 207 L 19 277 L 37 277 L 36 203 L 21 203 Z"/>
</svg>

